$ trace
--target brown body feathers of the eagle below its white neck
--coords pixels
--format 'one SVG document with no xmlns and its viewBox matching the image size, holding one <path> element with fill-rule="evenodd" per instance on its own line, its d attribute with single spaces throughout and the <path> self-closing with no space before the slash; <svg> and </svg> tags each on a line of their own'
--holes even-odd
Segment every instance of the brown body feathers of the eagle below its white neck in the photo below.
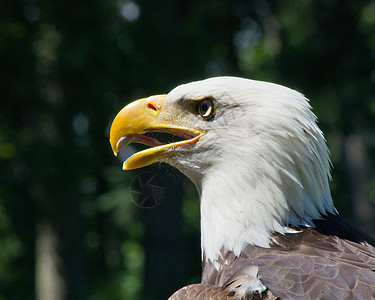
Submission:
<svg viewBox="0 0 375 300">
<path fill-rule="evenodd" d="M 247 245 L 239 257 L 222 251 L 219 270 L 204 262 L 202 283 L 170 299 L 374 299 L 375 241 L 340 216 L 314 223 L 274 234 L 270 248 Z M 267 290 L 238 292 L 257 281 Z"/>
</svg>

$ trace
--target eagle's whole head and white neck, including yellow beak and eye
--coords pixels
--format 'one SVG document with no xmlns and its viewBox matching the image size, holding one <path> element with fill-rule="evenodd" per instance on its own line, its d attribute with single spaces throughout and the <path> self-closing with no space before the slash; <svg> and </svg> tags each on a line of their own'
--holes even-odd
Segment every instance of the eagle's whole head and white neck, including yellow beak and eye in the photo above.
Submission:
<svg viewBox="0 0 375 300">
<path fill-rule="evenodd" d="M 182 140 L 163 144 L 147 132 Z M 165 162 L 194 182 L 202 252 L 212 262 L 222 249 L 239 255 L 246 244 L 269 247 L 274 232 L 336 212 L 316 117 L 302 94 L 281 85 L 215 77 L 137 100 L 110 132 L 115 155 L 130 142 L 150 148 L 128 158 L 125 170 Z"/>
</svg>

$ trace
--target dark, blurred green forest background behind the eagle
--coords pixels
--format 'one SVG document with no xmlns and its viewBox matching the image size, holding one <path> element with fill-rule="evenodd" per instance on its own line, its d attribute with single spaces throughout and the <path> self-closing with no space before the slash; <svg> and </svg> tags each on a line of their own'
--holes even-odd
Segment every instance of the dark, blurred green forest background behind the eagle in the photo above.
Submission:
<svg viewBox="0 0 375 300">
<path fill-rule="evenodd" d="M 375 1 L 3 0 L 0 299 L 166 299 L 199 281 L 194 186 L 162 164 L 123 172 L 135 148 L 115 158 L 108 133 L 131 100 L 217 75 L 311 99 L 335 204 L 374 236 Z M 145 208 L 132 186 L 151 175 Z"/>
</svg>

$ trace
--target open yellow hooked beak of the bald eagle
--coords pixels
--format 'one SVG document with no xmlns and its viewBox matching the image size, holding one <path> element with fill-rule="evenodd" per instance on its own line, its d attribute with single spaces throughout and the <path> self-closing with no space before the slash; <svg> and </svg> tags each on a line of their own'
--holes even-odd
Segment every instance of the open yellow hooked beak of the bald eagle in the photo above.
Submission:
<svg viewBox="0 0 375 300">
<path fill-rule="evenodd" d="M 165 99 L 166 95 L 157 95 L 134 101 L 125 106 L 113 120 L 110 143 L 114 155 L 117 156 L 118 152 L 131 142 L 151 147 L 129 157 L 124 162 L 124 170 L 161 161 L 173 155 L 177 148 L 196 143 L 203 135 L 198 130 L 178 125 L 175 113 L 163 108 Z M 163 144 L 155 138 L 143 135 L 146 132 L 166 132 L 184 140 Z"/>
</svg>

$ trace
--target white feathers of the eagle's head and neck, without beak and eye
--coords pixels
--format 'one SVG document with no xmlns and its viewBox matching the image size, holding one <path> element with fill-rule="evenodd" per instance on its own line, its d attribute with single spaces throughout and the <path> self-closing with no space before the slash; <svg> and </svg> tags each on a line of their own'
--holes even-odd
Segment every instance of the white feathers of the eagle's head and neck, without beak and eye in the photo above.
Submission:
<svg viewBox="0 0 375 300">
<path fill-rule="evenodd" d="M 330 158 L 308 100 L 289 88 L 235 77 L 181 85 L 167 103 L 212 97 L 214 120 L 196 121 L 206 134 L 189 153 L 167 160 L 197 186 L 202 251 L 215 263 L 221 249 L 269 247 L 288 224 L 313 225 L 336 213 Z"/>
</svg>

